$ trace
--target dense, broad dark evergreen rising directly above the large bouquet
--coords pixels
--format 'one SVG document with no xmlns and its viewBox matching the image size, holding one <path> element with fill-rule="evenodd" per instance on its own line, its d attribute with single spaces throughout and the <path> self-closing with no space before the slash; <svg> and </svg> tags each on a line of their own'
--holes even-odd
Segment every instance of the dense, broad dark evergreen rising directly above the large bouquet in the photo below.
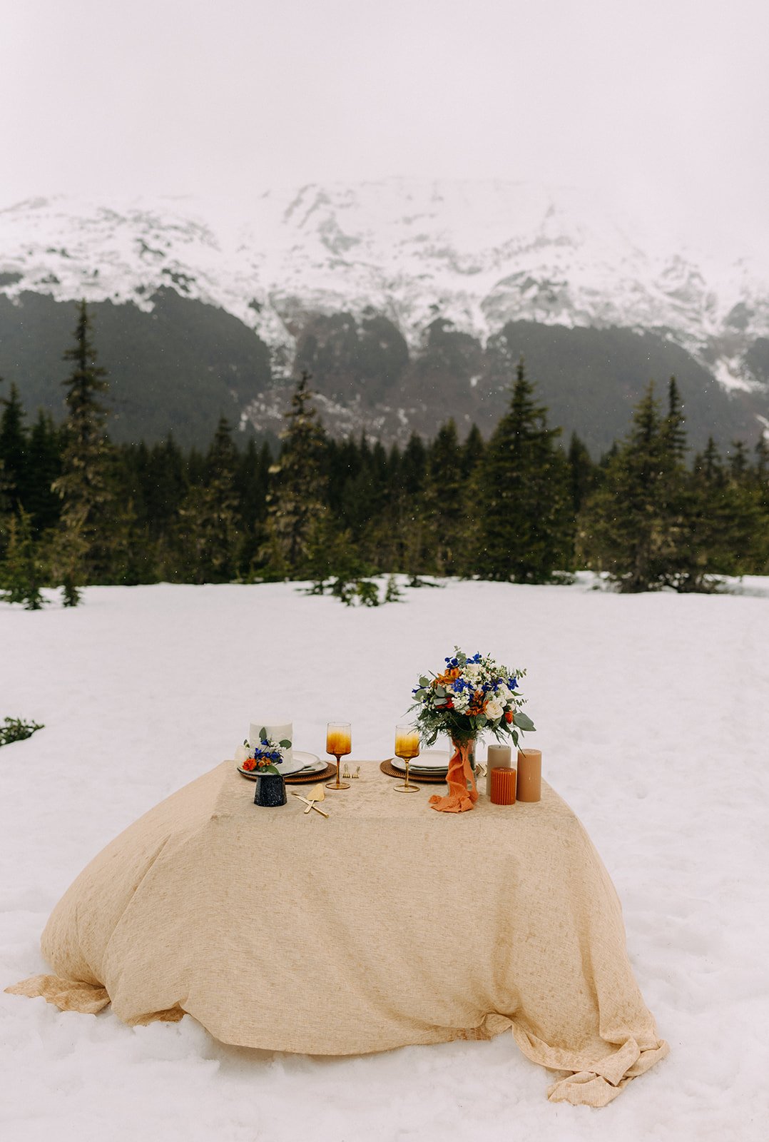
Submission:
<svg viewBox="0 0 769 1142">
<path fill-rule="evenodd" d="M 545 582 L 567 562 L 568 465 L 547 409 L 518 362 L 510 408 L 486 445 L 475 481 L 473 570 L 488 579 Z"/>
</svg>

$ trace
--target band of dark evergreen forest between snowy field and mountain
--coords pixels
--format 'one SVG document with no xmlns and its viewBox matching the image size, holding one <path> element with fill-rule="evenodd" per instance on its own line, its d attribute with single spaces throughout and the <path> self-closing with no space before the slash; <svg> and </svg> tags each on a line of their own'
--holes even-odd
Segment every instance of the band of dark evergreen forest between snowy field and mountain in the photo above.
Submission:
<svg viewBox="0 0 769 1142">
<path fill-rule="evenodd" d="M 487 442 L 452 420 L 403 449 L 334 440 L 302 373 L 278 455 L 236 443 L 225 418 L 201 453 L 171 434 L 110 441 L 84 303 L 64 359 L 60 425 L 0 388 L 0 597 L 30 609 L 42 587 L 75 605 L 88 584 L 301 579 L 371 602 L 382 573 L 549 582 L 588 568 L 623 592 L 769 573 L 769 444 L 690 456 L 674 378 L 664 396 L 649 384 L 599 463 L 574 435 L 564 447 L 523 361 Z"/>
</svg>

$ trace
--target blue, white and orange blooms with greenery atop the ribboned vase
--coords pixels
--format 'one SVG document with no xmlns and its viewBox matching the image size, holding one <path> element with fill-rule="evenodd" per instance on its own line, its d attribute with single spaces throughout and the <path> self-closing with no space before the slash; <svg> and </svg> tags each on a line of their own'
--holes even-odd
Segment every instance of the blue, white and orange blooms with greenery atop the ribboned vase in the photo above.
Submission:
<svg viewBox="0 0 769 1142">
<path fill-rule="evenodd" d="M 534 730 L 524 714 L 526 701 L 519 681 L 526 670 L 511 670 L 489 654 L 466 654 L 454 646 L 438 674 L 421 675 L 412 691 L 418 710 L 416 725 L 427 746 L 439 733 L 452 741 L 467 741 L 491 731 L 497 739 L 512 738 L 518 745 L 519 732 Z"/>
</svg>

